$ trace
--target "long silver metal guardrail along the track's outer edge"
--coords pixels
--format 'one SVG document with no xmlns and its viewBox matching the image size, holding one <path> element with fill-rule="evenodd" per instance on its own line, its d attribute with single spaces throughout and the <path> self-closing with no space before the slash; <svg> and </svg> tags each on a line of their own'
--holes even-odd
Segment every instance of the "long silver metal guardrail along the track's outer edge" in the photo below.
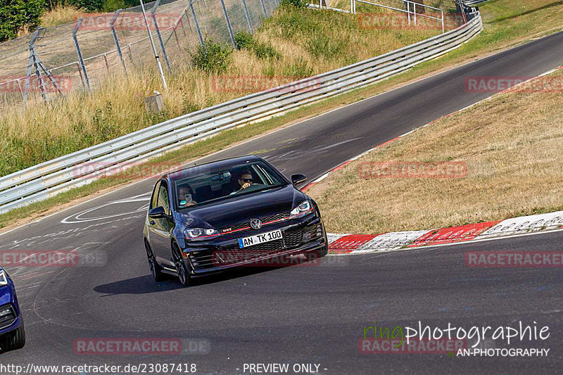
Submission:
<svg viewBox="0 0 563 375">
<path fill-rule="evenodd" d="M 451 51 L 483 30 L 481 16 L 455 30 L 321 75 L 204 108 L 112 141 L 0 177 L 0 213 L 87 184 L 124 165 L 160 155 L 224 129 L 262 120 L 396 75 Z"/>
</svg>

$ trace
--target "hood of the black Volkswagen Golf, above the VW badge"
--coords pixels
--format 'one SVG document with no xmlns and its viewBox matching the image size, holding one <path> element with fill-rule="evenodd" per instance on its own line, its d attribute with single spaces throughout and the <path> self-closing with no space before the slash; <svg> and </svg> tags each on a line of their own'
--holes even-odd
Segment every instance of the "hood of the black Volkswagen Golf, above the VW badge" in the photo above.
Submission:
<svg viewBox="0 0 563 375">
<path fill-rule="evenodd" d="M 177 212 L 177 219 L 186 227 L 215 228 L 230 227 L 253 217 L 266 217 L 289 212 L 305 199 L 305 194 L 292 185 L 269 191 L 235 196 L 225 200 Z"/>
</svg>

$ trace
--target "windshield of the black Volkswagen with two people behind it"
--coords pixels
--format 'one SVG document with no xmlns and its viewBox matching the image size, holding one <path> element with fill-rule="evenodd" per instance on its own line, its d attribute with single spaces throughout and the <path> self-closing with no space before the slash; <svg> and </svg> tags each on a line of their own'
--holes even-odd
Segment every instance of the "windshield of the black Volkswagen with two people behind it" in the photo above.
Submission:
<svg viewBox="0 0 563 375">
<path fill-rule="evenodd" d="M 179 177 L 174 180 L 177 209 L 256 193 L 287 184 L 279 172 L 259 160 L 227 167 L 213 168 L 201 165 L 178 173 Z"/>
</svg>

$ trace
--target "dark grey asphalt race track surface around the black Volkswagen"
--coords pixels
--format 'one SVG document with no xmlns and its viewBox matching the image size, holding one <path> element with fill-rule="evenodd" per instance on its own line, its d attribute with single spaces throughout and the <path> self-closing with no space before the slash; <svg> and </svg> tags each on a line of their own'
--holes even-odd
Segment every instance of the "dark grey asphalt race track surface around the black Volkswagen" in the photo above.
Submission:
<svg viewBox="0 0 563 375">
<path fill-rule="evenodd" d="M 348 158 L 491 94 L 468 76 L 534 76 L 563 61 L 563 32 L 334 110 L 205 160 L 258 152 L 289 176 L 314 178 Z M 468 250 L 561 250 L 563 232 L 372 255 L 316 267 L 243 269 L 181 288 L 151 280 L 142 226 L 153 180 L 114 191 L 0 236 L 0 250 L 77 250 L 101 266 L 11 271 L 27 345 L 0 364 L 196 363 L 239 374 L 244 363 L 320 364 L 324 374 L 555 373 L 563 364 L 561 269 L 472 269 Z M 548 357 L 362 354 L 363 327 L 445 328 L 537 322 Z M 77 355 L 77 338 L 197 338 L 206 355 Z M 500 341 L 488 347 L 515 348 Z M 237 368 L 241 370 L 236 370 Z M 246 372 L 248 374 L 248 371 Z"/>
</svg>

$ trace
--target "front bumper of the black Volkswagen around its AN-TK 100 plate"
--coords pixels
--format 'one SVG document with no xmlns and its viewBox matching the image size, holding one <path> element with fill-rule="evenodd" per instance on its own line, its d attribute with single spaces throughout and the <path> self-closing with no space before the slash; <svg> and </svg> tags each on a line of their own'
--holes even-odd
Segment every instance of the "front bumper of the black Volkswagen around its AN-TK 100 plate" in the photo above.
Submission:
<svg viewBox="0 0 563 375">
<path fill-rule="evenodd" d="M 238 240 L 267 231 L 281 230 L 282 239 L 239 248 Z M 262 265 L 265 260 L 284 255 L 321 250 L 327 246 L 322 220 L 315 213 L 235 234 L 222 235 L 210 241 L 188 243 L 182 250 L 191 276 L 203 276 L 233 267 Z"/>
</svg>

